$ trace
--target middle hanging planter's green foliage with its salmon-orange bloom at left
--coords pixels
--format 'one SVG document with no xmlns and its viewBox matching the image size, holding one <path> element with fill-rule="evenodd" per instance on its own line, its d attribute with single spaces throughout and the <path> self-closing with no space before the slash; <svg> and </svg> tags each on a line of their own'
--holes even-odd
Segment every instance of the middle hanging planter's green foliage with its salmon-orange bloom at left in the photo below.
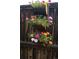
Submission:
<svg viewBox="0 0 79 59">
<path fill-rule="evenodd" d="M 46 29 L 50 25 L 52 25 L 52 22 L 50 23 L 50 20 L 48 20 L 46 17 L 41 18 L 40 16 L 39 17 L 32 16 L 32 18 L 28 21 L 28 24 L 31 26 L 34 25 L 42 26 Z"/>
</svg>

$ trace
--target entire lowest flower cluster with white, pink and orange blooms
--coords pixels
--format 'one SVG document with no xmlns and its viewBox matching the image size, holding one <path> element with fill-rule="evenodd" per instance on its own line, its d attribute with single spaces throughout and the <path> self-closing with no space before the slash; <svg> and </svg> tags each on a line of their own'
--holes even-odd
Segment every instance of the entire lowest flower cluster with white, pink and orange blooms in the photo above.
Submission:
<svg viewBox="0 0 79 59">
<path fill-rule="evenodd" d="M 53 36 L 49 32 L 31 33 L 30 39 L 34 43 L 40 43 L 44 46 L 53 44 Z"/>
</svg>

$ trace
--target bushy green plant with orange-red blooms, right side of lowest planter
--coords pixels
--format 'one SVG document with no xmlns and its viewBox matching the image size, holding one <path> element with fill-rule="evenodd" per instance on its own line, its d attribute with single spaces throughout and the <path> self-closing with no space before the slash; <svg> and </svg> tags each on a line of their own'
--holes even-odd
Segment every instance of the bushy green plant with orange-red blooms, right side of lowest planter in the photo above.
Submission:
<svg viewBox="0 0 79 59">
<path fill-rule="evenodd" d="M 53 36 L 49 32 L 42 32 L 39 40 L 43 46 L 53 44 Z"/>
</svg>

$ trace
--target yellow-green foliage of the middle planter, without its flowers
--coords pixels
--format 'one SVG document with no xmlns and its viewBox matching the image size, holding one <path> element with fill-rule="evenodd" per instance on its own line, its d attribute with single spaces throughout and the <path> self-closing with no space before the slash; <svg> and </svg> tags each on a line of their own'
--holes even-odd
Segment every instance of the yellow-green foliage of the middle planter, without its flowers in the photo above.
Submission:
<svg viewBox="0 0 79 59">
<path fill-rule="evenodd" d="M 29 20 L 28 23 L 30 26 L 42 25 L 45 29 L 46 29 L 46 27 L 49 27 L 48 20 L 46 18 L 41 18 L 41 17 L 38 17 L 33 21 Z"/>
</svg>

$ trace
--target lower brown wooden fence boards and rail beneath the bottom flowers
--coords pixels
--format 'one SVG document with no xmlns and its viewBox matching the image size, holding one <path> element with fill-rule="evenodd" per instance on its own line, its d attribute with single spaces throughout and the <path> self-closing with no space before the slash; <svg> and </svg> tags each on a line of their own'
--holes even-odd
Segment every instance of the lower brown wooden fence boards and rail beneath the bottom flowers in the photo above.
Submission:
<svg viewBox="0 0 79 59">
<path fill-rule="evenodd" d="M 34 47 L 31 44 L 21 43 L 21 59 L 58 59 L 58 47 Z"/>
</svg>

